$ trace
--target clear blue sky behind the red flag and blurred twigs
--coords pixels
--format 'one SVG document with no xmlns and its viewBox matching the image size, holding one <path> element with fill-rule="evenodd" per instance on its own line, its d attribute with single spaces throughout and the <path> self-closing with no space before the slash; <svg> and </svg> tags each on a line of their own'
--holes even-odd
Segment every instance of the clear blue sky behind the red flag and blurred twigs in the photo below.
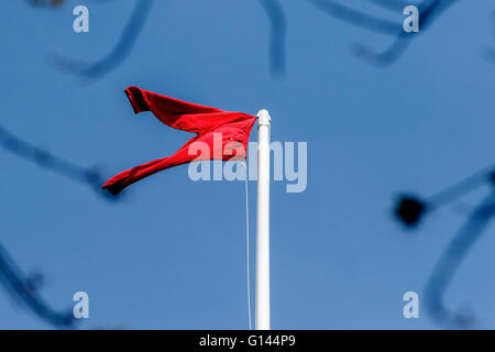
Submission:
<svg viewBox="0 0 495 352">
<path fill-rule="evenodd" d="M 117 42 L 134 1 L 89 4 L 90 33 L 73 32 L 68 1 L 34 10 L 3 4 L 2 125 L 108 177 L 163 157 L 189 134 L 134 116 L 123 90 L 152 91 L 272 114 L 272 140 L 308 142 L 308 188 L 272 184 L 274 329 L 435 329 L 403 317 L 465 215 L 446 208 L 407 233 L 391 216 L 404 190 L 430 195 L 493 163 L 495 45 L 492 1 L 460 1 L 393 66 L 350 53 L 392 38 L 284 0 L 287 75 L 268 65 L 270 23 L 257 1 L 156 1 L 125 62 L 87 84 L 54 70 L 50 54 L 97 59 Z M 356 8 L 391 19 L 384 10 Z M 253 130 L 253 132 L 255 129 Z M 255 133 L 251 141 L 255 141 Z M 130 187 L 119 202 L 0 150 L 0 239 L 25 272 L 46 275 L 43 295 L 69 307 L 90 298 L 80 328 L 245 329 L 243 183 L 194 183 L 187 166 Z M 255 183 L 251 183 L 255 229 Z M 472 207 L 487 189 L 463 199 Z M 464 261 L 446 296 L 495 323 L 495 228 Z M 254 249 L 254 231 L 251 233 Z M 252 256 L 254 268 L 254 255 Z M 253 280 L 254 283 L 254 280 Z M 0 290 L 1 329 L 51 328 Z"/>
</svg>

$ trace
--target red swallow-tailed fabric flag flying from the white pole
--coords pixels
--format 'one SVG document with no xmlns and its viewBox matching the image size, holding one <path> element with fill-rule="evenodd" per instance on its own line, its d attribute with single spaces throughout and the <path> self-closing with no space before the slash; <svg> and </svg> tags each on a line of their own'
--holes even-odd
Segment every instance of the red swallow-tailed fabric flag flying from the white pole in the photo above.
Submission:
<svg viewBox="0 0 495 352">
<path fill-rule="evenodd" d="M 129 87 L 125 89 L 125 94 L 135 113 L 151 111 L 166 125 L 196 133 L 196 136 L 170 156 L 135 166 L 110 178 L 102 188 L 113 195 L 118 195 L 122 189 L 142 178 L 168 167 L 197 160 L 245 158 L 255 117 L 180 101 L 138 87 Z M 197 143 L 194 144 L 195 142 Z M 201 147 L 206 145 L 209 153 L 201 153 Z"/>
</svg>

